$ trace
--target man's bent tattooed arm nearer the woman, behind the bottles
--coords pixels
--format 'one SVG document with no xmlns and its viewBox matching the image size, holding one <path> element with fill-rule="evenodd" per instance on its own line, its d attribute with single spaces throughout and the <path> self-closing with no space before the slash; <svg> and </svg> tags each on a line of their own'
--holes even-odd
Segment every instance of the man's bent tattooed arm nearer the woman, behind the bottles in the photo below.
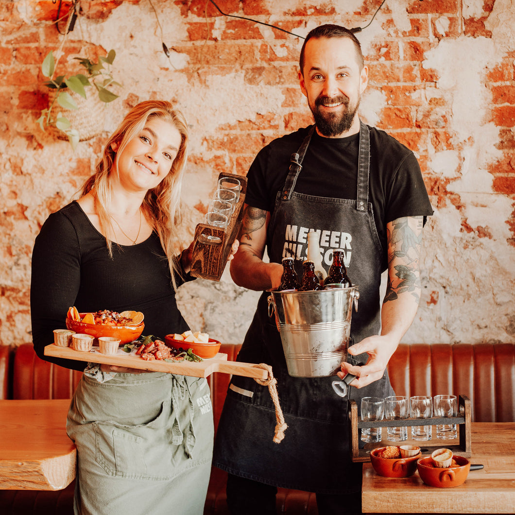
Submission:
<svg viewBox="0 0 515 515">
<path fill-rule="evenodd" d="M 263 262 L 270 213 L 247 204 L 243 209 L 239 249 L 231 261 L 231 277 L 238 286 L 256 291 L 277 288 L 281 283 L 282 265 Z"/>
</svg>

